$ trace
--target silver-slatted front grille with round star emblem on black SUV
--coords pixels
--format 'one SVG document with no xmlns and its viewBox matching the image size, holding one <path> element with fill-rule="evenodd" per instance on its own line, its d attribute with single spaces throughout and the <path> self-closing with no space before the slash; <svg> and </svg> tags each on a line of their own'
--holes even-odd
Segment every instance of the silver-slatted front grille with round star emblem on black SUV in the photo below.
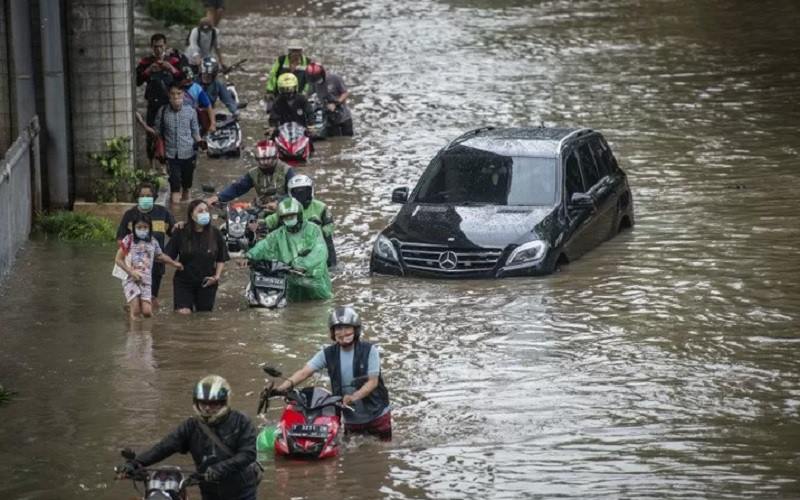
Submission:
<svg viewBox="0 0 800 500">
<path fill-rule="evenodd" d="M 452 248 L 429 243 L 398 242 L 407 268 L 436 273 L 492 271 L 503 253 L 499 248 Z"/>
</svg>

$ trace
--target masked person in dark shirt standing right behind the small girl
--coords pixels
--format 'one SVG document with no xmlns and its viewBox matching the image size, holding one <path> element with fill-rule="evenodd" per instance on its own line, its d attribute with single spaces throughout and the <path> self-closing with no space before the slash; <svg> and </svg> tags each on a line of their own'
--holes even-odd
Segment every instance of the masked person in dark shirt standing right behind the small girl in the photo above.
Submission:
<svg viewBox="0 0 800 500">
<path fill-rule="evenodd" d="M 117 227 L 117 243 L 129 234 L 133 234 L 134 221 L 140 214 L 147 214 L 152 221 L 152 236 L 158 242 L 159 247 L 166 248 L 166 237 L 172 234 L 175 226 L 175 218 L 169 210 L 161 205 L 155 204 L 156 190 L 150 183 L 142 183 L 137 190 L 136 206 L 128 209 L 122 216 L 122 220 Z M 158 292 L 161 289 L 161 278 L 164 276 L 165 268 L 161 262 L 153 265 L 152 274 L 152 306 L 158 309 Z"/>
</svg>

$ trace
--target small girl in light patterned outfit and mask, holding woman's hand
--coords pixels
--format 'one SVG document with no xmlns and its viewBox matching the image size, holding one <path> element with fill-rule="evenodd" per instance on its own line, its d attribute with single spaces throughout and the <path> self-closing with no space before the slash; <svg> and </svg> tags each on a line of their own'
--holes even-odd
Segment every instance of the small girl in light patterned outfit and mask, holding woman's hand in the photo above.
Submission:
<svg viewBox="0 0 800 500">
<path fill-rule="evenodd" d="M 128 274 L 122 282 L 122 290 L 131 319 L 137 319 L 139 315 L 149 318 L 153 314 L 151 303 L 154 263 L 167 263 L 179 270 L 183 269 L 183 265 L 161 251 L 158 240 L 153 237 L 153 222 L 149 215 L 137 213 L 131 223 L 133 234 L 128 234 L 119 242 L 114 261 Z"/>
</svg>

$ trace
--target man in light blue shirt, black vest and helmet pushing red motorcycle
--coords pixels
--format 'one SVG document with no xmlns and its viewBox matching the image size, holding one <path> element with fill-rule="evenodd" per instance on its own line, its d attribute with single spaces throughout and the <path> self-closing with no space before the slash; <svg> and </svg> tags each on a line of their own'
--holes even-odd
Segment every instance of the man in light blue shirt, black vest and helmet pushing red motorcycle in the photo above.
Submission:
<svg viewBox="0 0 800 500">
<path fill-rule="evenodd" d="M 353 407 L 353 411 L 345 410 L 345 430 L 391 441 L 389 391 L 381 377 L 378 349 L 361 340 L 361 319 L 352 307 L 331 311 L 328 328 L 334 343 L 322 348 L 273 393 L 285 393 L 325 368 L 333 394 L 342 396 L 344 404 Z"/>
</svg>

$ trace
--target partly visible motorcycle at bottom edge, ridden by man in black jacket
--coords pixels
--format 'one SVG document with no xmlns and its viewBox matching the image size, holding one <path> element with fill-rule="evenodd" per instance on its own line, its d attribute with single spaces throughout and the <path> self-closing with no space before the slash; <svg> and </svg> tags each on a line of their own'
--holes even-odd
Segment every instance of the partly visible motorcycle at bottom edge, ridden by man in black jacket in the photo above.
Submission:
<svg viewBox="0 0 800 500">
<path fill-rule="evenodd" d="M 122 457 L 126 460 L 133 460 L 136 454 L 130 450 L 122 450 Z M 139 483 L 144 487 L 142 500 L 186 500 L 186 489 L 197 486 L 203 477 L 197 473 L 186 473 L 177 466 L 164 465 L 161 467 L 145 468 L 140 467 L 133 473 L 126 473 L 120 467 L 116 467 L 118 479 L 130 479 L 133 481 L 133 488 L 142 494 Z"/>
</svg>

